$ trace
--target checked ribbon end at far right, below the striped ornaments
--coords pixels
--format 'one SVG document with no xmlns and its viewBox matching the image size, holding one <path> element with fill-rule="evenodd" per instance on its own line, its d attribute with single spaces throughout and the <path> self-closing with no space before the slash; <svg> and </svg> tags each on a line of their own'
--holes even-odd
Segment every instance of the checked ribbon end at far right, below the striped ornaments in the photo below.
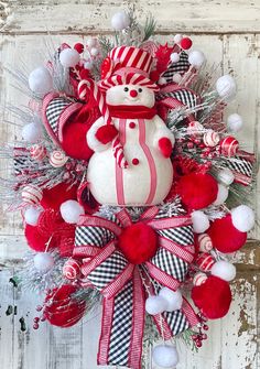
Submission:
<svg viewBox="0 0 260 369">
<path fill-rule="evenodd" d="M 235 182 L 248 186 L 252 182 L 254 162 L 254 154 L 240 150 L 238 155 L 228 158 L 226 160 L 226 165 L 229 170 L 232 171 L 235 175 Z"/>
</svg>

